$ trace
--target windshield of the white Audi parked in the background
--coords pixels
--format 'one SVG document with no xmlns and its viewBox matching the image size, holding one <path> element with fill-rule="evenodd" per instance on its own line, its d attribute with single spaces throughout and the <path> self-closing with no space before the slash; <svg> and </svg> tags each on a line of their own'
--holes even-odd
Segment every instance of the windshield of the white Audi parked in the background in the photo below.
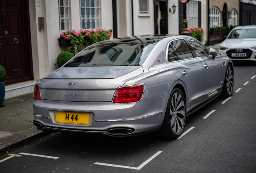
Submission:
<svg viewBox="0 0 256 173">
<path fill-rule="evenodd" d="M 256 38 L 256 28 L 233 30 L 229 38 Z"/>
</svg>

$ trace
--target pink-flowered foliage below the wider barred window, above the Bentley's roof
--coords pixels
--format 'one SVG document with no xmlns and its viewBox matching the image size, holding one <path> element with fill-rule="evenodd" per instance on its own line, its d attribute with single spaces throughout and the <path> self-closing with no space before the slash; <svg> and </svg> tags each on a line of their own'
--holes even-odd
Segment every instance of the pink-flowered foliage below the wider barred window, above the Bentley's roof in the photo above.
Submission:
<svg viewBox="0 0 256 173">
<path fill-rule="evenodd" d="M 80 29 L 81 30 L 81 29 Z M 108 32 L 106 30 L 81 30 L 82 36 L 84 36 L 85 43 L 89 46 L 91 44 L 108 40 L 110 39 L 110 36 L 112 35 L 111 32 Z"/>
</svg>

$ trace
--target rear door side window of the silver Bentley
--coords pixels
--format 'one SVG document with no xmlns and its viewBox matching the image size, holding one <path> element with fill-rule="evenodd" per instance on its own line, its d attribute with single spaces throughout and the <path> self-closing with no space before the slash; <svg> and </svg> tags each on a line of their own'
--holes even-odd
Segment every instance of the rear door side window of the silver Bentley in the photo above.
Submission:
<svg viewBox="0 0 256 173">
<path fill-rule="evenodd" d="M 174 40 L 170 44 L 173 47 L 174 51 L 176 52 L 179 60 L 193 58 L 192 52 L 190 51 L 188 45 L 183 39 Z"/>
</svg>

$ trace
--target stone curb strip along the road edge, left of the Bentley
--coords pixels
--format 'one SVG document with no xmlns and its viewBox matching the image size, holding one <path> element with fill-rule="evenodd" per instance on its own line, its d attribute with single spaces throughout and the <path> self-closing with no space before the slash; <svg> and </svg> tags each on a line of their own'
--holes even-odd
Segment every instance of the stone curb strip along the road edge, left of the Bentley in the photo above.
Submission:
<svg viewBox="0 0 256 173">
<path fill-rule="evenodd" d="M 18 147 L 19 145 L 22 145 L 29 141 L 38 139 L 39 137 L 45 136 L 49 133 L 52 132 L 39 131 L 36 129 L 36 127 L 32 127 L 31 129 L 27 129 L 25 131 L 15 133 L 14 135 L 2 138 L 0 139 L 0 153 Z"/>
</svg>

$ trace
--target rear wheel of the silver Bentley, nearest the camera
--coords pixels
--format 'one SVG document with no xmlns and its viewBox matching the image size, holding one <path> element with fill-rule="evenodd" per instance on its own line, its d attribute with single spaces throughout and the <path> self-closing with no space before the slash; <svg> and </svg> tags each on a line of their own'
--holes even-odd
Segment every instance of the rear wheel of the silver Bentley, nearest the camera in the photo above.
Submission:
<svg viewBox="0 0 256 173">
<path fill-rule="evenodd" d="M 178 138 L 184 130 L 185 122 L 186 101 L 182 91 L 174 88 L 167 103 L 161 135 L 169 139 Z"/>
</svg>

